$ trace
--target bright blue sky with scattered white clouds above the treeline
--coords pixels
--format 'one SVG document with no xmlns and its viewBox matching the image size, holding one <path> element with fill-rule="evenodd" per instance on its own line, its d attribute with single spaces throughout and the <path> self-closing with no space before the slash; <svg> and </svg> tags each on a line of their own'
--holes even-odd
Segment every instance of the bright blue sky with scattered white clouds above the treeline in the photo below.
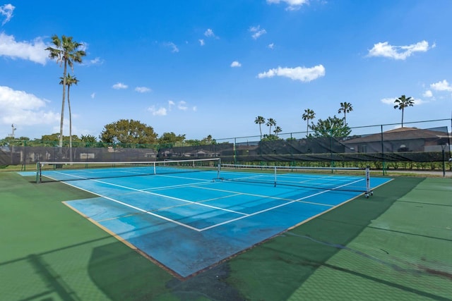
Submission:
<svg viewBox="0 0 452 301">
<path fill-rule="evenodd" d="M 16 137 L 59 133 L 52 35 L 87 53 L 71 88 L 79 136 L 122 118 L 251 136 L 256 116 L 295 133 L 304 109 L 342 117 L 340 102 L 351 127 L 400 123 L 402 94 L 415 99 L 405 123 L 451 118 L 451 12 L 450 0 L 0 1 L 0 137 L 12 124 Z"/>
</svg>

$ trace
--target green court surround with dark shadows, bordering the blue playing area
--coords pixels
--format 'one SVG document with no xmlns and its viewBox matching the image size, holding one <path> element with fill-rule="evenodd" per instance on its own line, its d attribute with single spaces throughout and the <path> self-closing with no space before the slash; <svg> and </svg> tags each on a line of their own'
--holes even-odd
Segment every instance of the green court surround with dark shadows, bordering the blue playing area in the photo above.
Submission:
<svg viewBox="0 0 452 301">
<path fill-rule="evenodd" d="M 185 281 L 61 204 L 88 198 L 87 192 L 33 185 L 11 173 L 0 173 L 0 181 L 5 300 L 450 300 L 452 293 L 445 253 L 451 241 L 446 230 L 432 231 L 445 223 L 450 195 L 441 206 L 416 204 L 424 201 L 411 195 L 424 178 L 396 178 L 369 199 L 359 197 Z"/>
</svg>

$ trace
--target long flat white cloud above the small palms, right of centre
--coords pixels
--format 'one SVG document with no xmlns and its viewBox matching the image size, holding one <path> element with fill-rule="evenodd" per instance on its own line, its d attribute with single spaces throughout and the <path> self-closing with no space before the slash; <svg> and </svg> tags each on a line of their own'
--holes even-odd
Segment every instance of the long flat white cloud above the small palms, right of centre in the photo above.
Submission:
<svg viewBox="0 0 452 301">
<path fill-rule="evenodd" d="M 322 65 L 312 68 L 295 67 L 295 68 L 273 68 L 267 72 L 259 73 L 258 78 L 273 78 L 274 76 L 283 76 L 292 80 L 301 82 L 310 82 L 325 75 L 325 68 Z"/>
</svg>

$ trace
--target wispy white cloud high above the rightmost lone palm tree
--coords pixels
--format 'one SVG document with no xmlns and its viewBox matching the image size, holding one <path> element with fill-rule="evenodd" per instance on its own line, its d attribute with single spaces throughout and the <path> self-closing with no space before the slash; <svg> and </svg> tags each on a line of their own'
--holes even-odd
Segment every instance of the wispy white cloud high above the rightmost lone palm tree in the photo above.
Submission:
<svg viewBox="0 0 452 301">
<path fill-rule="evenodd" d="M 427 41 L 407 46 L 393 46 L 388 44 L 388 42 L 379 42 L 374 44 L 374 47 L 369 50 L 368 56 L 383 56 L 390 59 L 405 60 L 415 52 L 426 52 L 434 47 L 435 44 L 429 47 L 429 42 Z"/>
</svg>

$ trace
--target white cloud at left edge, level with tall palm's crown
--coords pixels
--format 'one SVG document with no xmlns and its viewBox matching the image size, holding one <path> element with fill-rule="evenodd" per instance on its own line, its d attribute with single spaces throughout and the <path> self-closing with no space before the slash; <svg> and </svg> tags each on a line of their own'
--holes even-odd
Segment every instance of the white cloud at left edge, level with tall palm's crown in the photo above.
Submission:
<svg viewBox="0 0 452 301">
<path fill-rule="evenodd" d="M 37 37 L 32 42 L 16 42 L 13 35 L 5 35 L 0 32 L 0 56 L 8 56 L 11 59 L 25 59 L 45 65 L 49 53 L 45 51 L 49 45 Z"/>
</svg>

